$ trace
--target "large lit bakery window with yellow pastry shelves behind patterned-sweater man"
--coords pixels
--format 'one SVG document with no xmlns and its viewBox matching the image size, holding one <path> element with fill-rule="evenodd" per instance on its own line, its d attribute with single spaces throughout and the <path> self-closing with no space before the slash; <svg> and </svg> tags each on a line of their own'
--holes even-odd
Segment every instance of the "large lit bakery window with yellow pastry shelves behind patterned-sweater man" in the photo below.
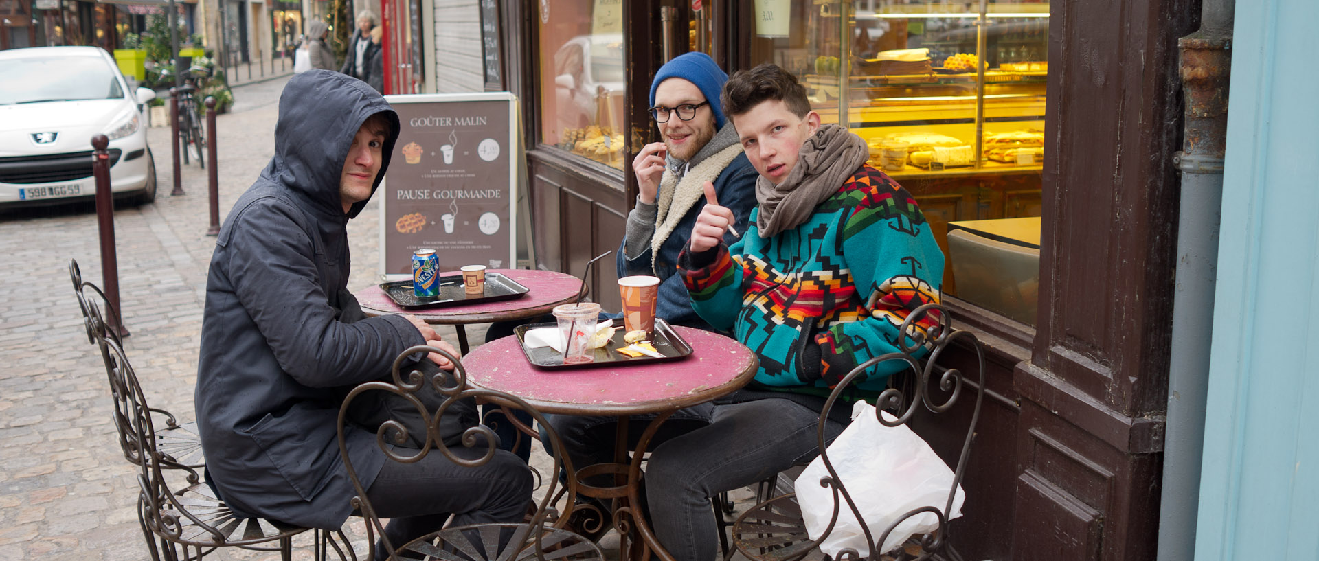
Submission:
<svg viewBox="0 0 1319 561">
<path fill-rule="evenodd" d="M 824 122 L 921 204 L 944 294 L 1035 323 L 1049 3 L 754 0 L 752 63 L 807 87 Z"/>
</svg>

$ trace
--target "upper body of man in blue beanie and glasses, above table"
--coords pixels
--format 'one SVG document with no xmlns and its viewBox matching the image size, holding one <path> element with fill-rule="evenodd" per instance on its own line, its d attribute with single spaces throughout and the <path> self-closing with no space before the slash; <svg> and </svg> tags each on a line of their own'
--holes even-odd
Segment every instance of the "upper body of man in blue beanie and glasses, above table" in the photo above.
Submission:
<svg viewBox="0 0 1319 561">
<path fill-rule="evenodd" d="M 675 325 L 711 329 L 691 308 L 691 296 L 677 275 L 678 253 L 706 205 L 711 183 L 719 204 L 733 211 L 733 229 L 747 230 L 756 207 L 756 169 L 743 154 L 737 130 L 719 103 L 728 75 L 704 53 L 669 61 L 650 83 L 650 117 L 662 142 L 652 142 L 632 161 L 637 204 L 628 215 L 619 277 L 661 279 L 656 316 Z M 727 234 L 727 242 L 737 238 Z"/>
</svg>

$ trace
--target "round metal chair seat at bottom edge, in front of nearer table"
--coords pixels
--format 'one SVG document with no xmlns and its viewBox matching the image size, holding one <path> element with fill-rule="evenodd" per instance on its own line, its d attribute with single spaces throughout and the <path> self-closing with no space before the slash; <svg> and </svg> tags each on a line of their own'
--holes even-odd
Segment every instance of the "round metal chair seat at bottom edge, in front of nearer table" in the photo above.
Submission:
<svg viewBox="0 0 1319 561">
<path fill-rule="evenodd" d="M 536 558 L 530 524 L 471 524 L 445 528 L 398 548 L 400 554 L 437 560 L 522 561 Z M 500 533 L 512 536 L 499 548 Z M 582 535 L 553 527 L 539 527 L 545 558 L 553 561 L 604 561 L 600 548 Z M 517 544 L 517 545 L 514 545 Z M 454 552 L 458 554 L 455 556 Z"/>
</svg>

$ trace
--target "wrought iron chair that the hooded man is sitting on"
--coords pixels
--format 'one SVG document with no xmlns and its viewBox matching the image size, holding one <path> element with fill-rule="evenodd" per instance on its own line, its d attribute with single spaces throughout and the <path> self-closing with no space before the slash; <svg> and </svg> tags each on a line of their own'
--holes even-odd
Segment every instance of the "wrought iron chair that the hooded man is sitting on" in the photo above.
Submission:
<svg viewBox="0 0 1319 561">
<path fill-rule="evenodd" d="M 88 307 L 94 333 L 103 333 L 104 325 L 95 304 Z M 293 536 L 309 528 L 294 527 L 277 520 L 243 519 L 218 499 L 200 479 L 194 468 L 181 465 L 160 449 L 154 428 L 156 411 L 146 404 L 142 386 L 137 381 L 124 349 L 117 341 L 96 336 L 96 344 L 106 357 L 111 395 L 115 399 L 116 423 L 121 423 L 128 440 L 125 450 L 133 450 L 132 461 L 138 469 L 137 516 L 153 560 L 200 560 L 222 547 L 255 550 L 278 550 L 285 561 L 293 556 Z M 121 442 L 123 444 L 123 442 Z M 136 458 L 136 461 L 133 461 Z M 182 474 L 182 475 L 179 475 Z M 185 479 L 178 482 L 178 479 Z M 173 481 L 171 481 L 173 479 Z M 342 531 L 339 540 L 347 544 Z M 315 558 L 324 558 L 332 547 L 343 558 L 344 549 L 326 533 L 315 531 Z"/>
</svg>

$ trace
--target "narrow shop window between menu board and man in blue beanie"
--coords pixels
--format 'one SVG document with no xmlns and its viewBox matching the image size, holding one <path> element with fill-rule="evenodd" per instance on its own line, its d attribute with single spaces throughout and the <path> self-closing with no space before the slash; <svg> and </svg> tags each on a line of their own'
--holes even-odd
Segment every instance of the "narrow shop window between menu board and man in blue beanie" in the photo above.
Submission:
<svg viewBox="0 0 1319 561">
<path fill-rule="evenodd" d="M 623 0 L 542 0 L 541 142 L 623 169 Z"/>
</svg>

